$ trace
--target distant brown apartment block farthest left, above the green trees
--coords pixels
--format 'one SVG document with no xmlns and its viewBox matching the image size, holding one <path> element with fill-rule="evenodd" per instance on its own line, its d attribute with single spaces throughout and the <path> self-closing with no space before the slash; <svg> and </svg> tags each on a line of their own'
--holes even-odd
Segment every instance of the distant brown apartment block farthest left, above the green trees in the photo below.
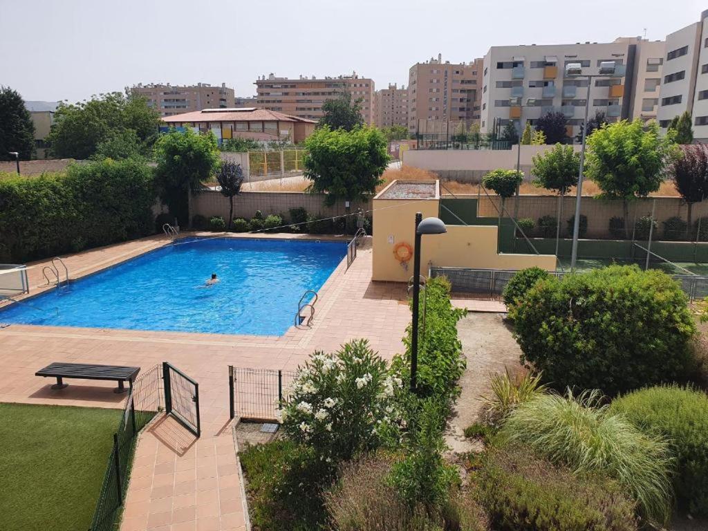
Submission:
<svg viewBox="0 0 708 531">
<path fill-rule="evenodd" d="M 158 110 L 161 116 L 235 106 L 234 89 L 229 89 L 225 83 L 221 86 L 212 86 L 208 83 L 191 86 L 141 83 L 133 86 L 130 91 L 147 98 L 147 104 Z"/>
</svg>

